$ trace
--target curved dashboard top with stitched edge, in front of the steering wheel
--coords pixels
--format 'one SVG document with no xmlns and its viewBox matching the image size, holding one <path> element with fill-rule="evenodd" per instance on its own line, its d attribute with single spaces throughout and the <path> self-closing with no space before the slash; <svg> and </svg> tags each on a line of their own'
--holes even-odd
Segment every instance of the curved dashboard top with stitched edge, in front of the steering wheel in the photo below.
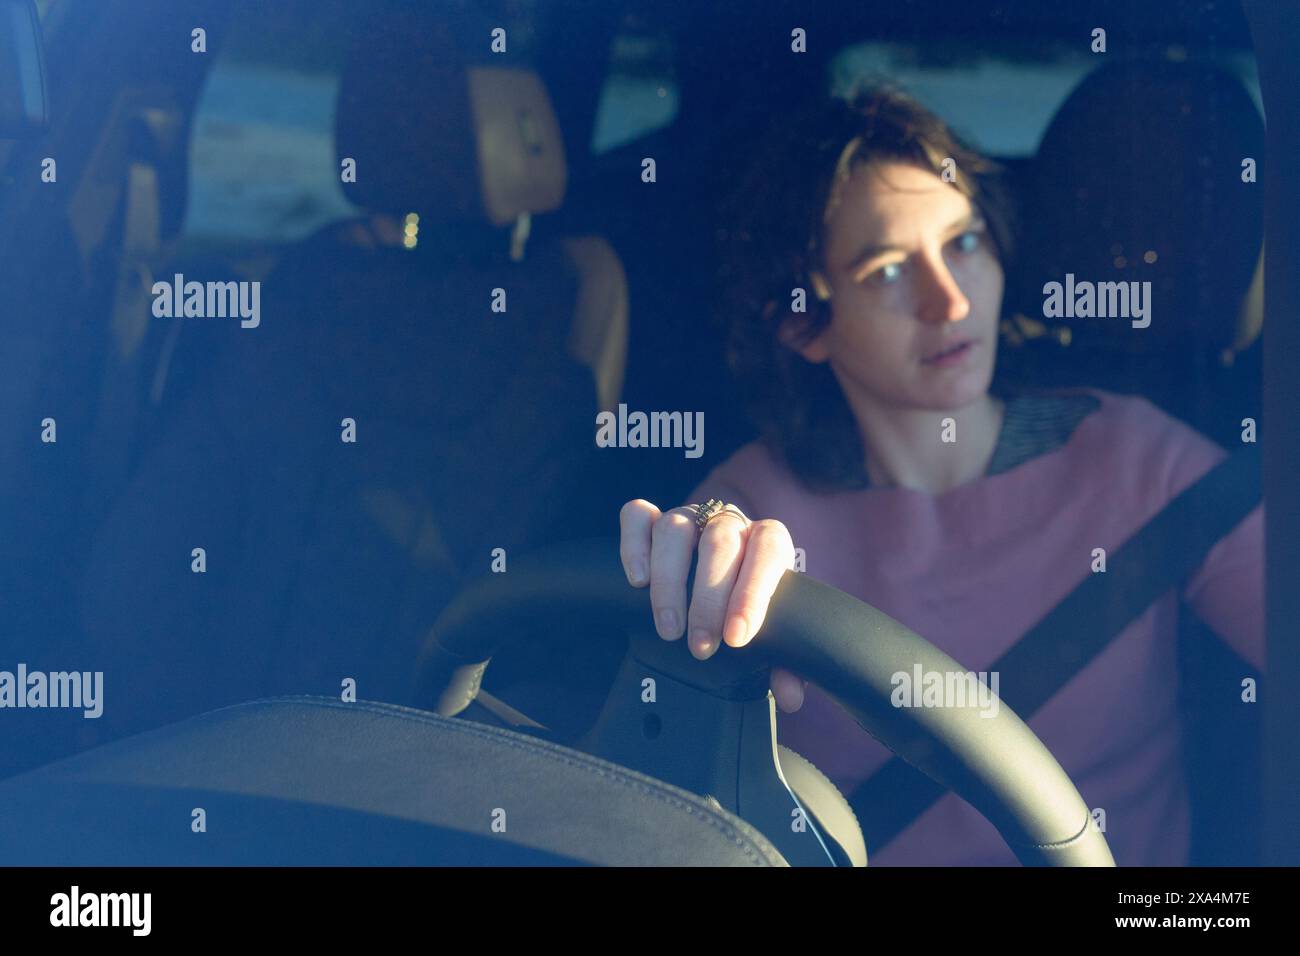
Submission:
<svg viewBox="0 0 1300 956">
<path fill-rule="evenodd" d="M 309 697 L 225 708 L 0 783 L 0 858 L 785 865 L 734 814 L 578 750 L 421 710 Z"/>
</svg>

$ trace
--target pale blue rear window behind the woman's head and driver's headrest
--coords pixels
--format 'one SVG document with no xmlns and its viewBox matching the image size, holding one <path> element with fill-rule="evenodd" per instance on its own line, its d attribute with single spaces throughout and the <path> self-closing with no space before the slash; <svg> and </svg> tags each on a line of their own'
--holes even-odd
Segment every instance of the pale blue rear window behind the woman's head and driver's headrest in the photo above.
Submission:
<svg viewBox="0 0 1300 956">
<path fill-rule="evenodd" d="M 1167 60 L 1186 60 L 1190 51 L 1170 46 L 1154 51 Z M 1145 55 L 1145 51 L 1143 51 Z M 1260 82 L 1254 57 L 1239 51 L 1197 52 L 1238 75 L 1260 112 Z M 1086 44 L 982 46 L 972 53 L 967 39 L 952 49 L 933 39 L 922 44 L 855 43 L 831 62 L 831 92 L 849 95 L 867 79 L 888 78 L 939 113 L 976 147 L 996 156 L 1032 156 L 1039 139 L 1079 82 L 1095 70 L 1100 56 Z"/>
</svg>

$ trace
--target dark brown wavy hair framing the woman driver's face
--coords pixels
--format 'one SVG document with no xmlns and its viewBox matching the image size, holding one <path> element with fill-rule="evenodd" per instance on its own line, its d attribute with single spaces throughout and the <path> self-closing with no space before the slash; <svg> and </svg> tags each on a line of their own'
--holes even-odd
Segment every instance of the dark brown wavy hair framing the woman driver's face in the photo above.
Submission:
<svg viewBox="0 0 1300 956">
<path fill-rule="evenodd" d="M 796 345 L 831 323 L 829 303 L 812 294 L 811 276 L 824 269 L 823 233 L 836 186 L 859 165 L 884 161 L 942 176 L 949 157 L 956 161 L 953 187 L 984 216 L 1005 267 L 1013 212 L 1001 169 L 889 85 L 781 116 L 724 200 L 731 224 L 719 233 L 727 364 L 762 441 L 811 490 L 870 485 L 862 438 L 831 367 L 805 360 L 779 338 L 792 316 L 802 325 Z M 796 316 L 790 303 L 800 287 L 809 311 Z"/>
</svg>

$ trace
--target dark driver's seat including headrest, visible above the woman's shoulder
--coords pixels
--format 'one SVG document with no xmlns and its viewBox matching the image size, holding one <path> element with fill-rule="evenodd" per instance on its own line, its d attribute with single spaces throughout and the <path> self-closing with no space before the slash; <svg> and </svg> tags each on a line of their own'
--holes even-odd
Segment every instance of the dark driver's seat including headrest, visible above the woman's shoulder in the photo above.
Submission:
<svg viewBox="0 0 1300 956">
<path fill-rule="evenodd" d="M 1089 74 L 1043 135 L 1023 254 L 1008 282 L 1009 312 L 1067 329 L 1070 343 L 1044 336 L 1008 347 L 1000 373 L 1138 393 L 1221 444 L 1238 444 L 1242 419 L 1260 412 L 1261 350 L 1248 330 L 1258 323 L 1243 308 L 1260 263 L 1264 193 L 1242 182 L 1247 156 L 1264 161 L 1264 121 L 1231 74 L 1166 61 Z M 1067 273 L 1149 281 L 1149 328 L 1044 319 L 1044 284 Z"/>
</svg>

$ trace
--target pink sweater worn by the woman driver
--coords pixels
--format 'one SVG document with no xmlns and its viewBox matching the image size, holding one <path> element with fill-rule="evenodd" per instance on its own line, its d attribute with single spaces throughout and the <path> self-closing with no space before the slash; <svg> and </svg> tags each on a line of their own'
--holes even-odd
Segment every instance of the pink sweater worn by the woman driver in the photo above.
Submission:
<svg viewBox="0 0 1300 956">
<path fill-rule="evenodd" d="M 750 518 L 783 522 L 805 550 L 809 575 L 898 619 L 963 667 L 988 670 L 1091 574 L 1093 548 L 1106 549 L 1108 574 L 1124 574 L 1113 559 L 1119 545 L 1225 457 L 1147 399 L 1082 392 L 1101 406 L 1066 445 L 940 496 L 906 488 L 815 494 L 755 441 L 714 468 L 689 501 L 719 497 Z M 1262 507 L 1210 550 L 1180 591 L 1257 670 Z M 1088 806 L 1105 810 L 1121 866 L 1187 865 L 1176 614 L 1171 588 L 1030 721 Z M 1014 675 L 1000 679 L 1005 692 Z M 845 793 L 892 756 L 816 685 L 798 713 L 779 713 L 777 724 L 780 741 Z M 953 793 L 868 851 L 872 865 L 887 866 L 1017 862 L 992 825 Z"/>
</svg>

